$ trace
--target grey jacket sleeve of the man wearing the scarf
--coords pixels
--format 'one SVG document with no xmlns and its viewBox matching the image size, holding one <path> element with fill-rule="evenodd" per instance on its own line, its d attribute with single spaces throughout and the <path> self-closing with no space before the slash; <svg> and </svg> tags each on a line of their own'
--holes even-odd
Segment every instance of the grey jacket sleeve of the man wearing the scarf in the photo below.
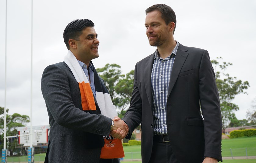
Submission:
<svg viewBox="0 0 256 163">
<path fill-rule="evenodd" d="M 59 66 L 50 65 L 45 68 L 41 91 L 48 108 L 50 121 L 53 118 L 57 124 L 69 129 L 108 135 L 111 118 L 90 114 L 76 108 L 71 98 L 70 89 L 72 88 L 69 82 L 67 74 Z"/>
</svg>

